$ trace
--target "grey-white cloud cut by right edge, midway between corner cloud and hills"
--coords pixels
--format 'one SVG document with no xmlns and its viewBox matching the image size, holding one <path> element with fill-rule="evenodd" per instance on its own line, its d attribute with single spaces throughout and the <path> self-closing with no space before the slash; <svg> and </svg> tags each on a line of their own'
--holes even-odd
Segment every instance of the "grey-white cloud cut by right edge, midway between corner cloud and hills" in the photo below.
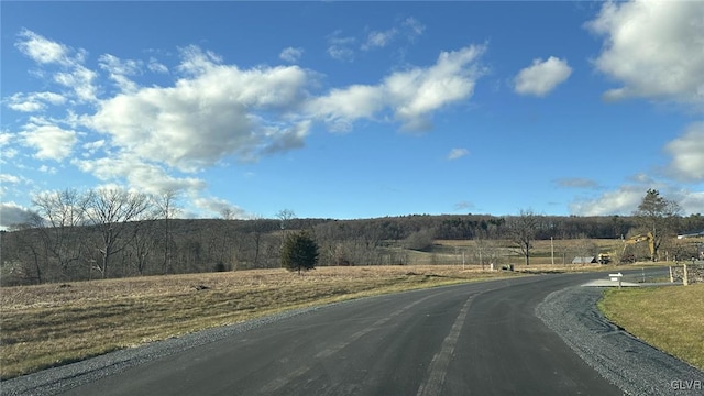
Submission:
<svg viewBox="0 0 704 396">
<path fill-rule="evenodd" d="M 681 180 L 704 180 L 704 122 L 691 124 L 683 135 L 668 143 L 672 156 L 670 174 Z"/>
</svg>

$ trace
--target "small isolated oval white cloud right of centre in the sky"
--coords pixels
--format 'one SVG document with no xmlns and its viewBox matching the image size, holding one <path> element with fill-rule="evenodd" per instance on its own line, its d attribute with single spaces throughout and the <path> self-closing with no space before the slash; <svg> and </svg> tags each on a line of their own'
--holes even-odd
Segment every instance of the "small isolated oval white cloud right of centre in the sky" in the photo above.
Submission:
<svg viewBox="0 0 704 396">
<path fill-rule="evenodd" d="M 514 80 L 514 90 L 520 95 L 543 97 L 564 82 L 572 68 L 564 59 L 550 56 L 547 61 L 534 59 L 532 65 L 521 69 Z"/>
</svg>

